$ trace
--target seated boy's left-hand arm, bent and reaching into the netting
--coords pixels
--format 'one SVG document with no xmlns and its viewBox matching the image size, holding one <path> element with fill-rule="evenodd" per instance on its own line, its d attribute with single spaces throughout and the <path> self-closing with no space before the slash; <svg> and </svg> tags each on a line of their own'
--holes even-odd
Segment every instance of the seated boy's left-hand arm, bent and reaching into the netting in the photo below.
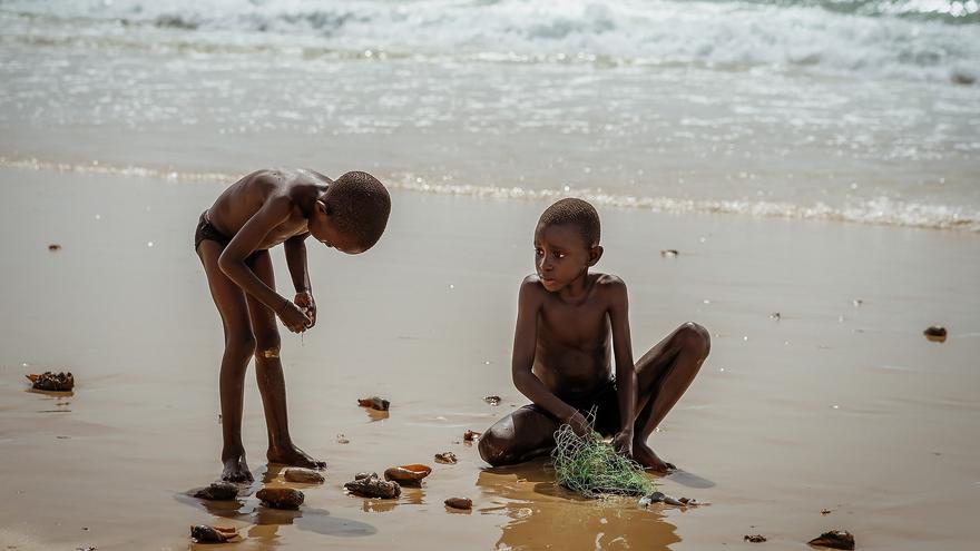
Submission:
<svg viewBox="0 0 980 551">
<path fill-rule="evenodd" d="M 528 400 L 543 407 L 561 422 L 569 423 L 572 421 L 571 417 L 578 414 L 578 411 L 556 396 L 531 371 L 535 366 L 535 348 L 538 344 L 538 313 L 541 309 L 541 296 L 535 288 L 537 285 L 537 278 L 528 276 L 521 284 L 518 295 L 511 376 L 513 385 Z M 577 424 L 582 423 L 585 423 L 585 419 L 581 419 Z M 572 426 L 575 427 L 577 424 Z M 586 424 L 586 426 L 588 425 Z"/>
</svg>

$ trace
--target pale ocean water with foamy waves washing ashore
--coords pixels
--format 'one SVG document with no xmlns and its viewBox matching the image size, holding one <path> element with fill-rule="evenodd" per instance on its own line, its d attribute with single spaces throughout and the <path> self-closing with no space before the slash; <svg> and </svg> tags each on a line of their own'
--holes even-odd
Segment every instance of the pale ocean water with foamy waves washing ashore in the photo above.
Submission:
<svg viewBox="0 0 980 551">
<path fill-rule="evenodd" d="M 0 0 L 0 166 L 980 230 L 976 0 Z"/>
</svg>

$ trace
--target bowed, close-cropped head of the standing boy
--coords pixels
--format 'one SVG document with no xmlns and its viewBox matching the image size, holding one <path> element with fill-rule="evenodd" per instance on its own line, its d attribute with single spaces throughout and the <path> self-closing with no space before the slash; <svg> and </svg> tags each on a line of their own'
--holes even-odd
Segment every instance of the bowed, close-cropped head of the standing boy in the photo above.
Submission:
<svg viewBox="0 0 980 551">
<path fill-rule="evenodd" d="M 384 233 L 391 214 L 391 197 L 378 178 L 351 171 L 331 184 L 326 203 L 337 227 L 357 238 L 367 250 Z"/>
</svg>

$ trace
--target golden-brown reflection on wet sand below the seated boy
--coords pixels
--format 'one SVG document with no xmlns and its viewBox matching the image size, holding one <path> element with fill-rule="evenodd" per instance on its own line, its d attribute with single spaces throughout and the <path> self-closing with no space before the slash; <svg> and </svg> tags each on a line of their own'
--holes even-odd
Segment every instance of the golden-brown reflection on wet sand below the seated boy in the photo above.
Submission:
<svg viewBox="0 0 980 551">
<path fill-rule="evenodd" d="M 630 498 L 588 500 L 555 484 L 545 460 L 509 469 L 484 469 L 477 479 L 483 514 L 504 514 L 498 549 L 667 550 L 680 541 L 657 510 Z"/>
</svg>

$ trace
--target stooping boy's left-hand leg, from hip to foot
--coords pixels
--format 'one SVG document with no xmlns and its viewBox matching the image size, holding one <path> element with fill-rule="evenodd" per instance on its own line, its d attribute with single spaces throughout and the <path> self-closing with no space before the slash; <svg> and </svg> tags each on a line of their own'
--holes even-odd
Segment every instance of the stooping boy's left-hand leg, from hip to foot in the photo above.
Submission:
<svg viewBox="0 0 980 551">
<path fill-rule="evenodd" d="M 245 393 L 245 370 L 255 350 L 255 340 L 248 324 L 248 306 L 245 293 L 218 267 L 220 244 L 203 240 L 197 246 L 197 256 L 204 264 L 210 296 L 222 315 L 225 331 L 225 353 L 222 356 L 220 401 L 222 401 L 222 480 L 251 482 L 252 473 L 245 463 L 245 446 L 242 444 L 242 404 Z"/>
</svg>

